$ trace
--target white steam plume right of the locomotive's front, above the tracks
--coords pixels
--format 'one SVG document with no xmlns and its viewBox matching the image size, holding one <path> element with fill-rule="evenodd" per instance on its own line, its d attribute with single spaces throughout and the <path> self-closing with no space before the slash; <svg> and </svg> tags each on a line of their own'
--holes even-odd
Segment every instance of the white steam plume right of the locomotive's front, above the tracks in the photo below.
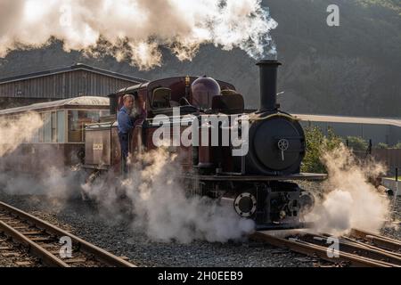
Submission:
<svg viewBox="0 0 401 285">
<path fill-rule="evenodd" d="M 307 216 L 315 221 L 316 230 L 342 234 L 352 228 L 378 232 L 389 218 L 389 199 L 379 192 L 369 176 L 384 172 L 381 164 L 357 163 L 354 155 L 344 146 L 323 155 L 329 179 L 323 184 L 323 200 Z"/>
</svg>

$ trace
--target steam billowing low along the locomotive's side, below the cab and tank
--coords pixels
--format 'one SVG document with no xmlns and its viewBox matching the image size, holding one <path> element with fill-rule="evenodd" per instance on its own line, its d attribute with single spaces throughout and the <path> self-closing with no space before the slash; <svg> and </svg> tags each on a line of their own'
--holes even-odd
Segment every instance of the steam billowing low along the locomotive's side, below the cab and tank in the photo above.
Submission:
<svg viewBox="0 0 401 285">
<path fill-rule="evenodd" d="M 187 197 L 178 182 L 180 168 L 176 160 L 159 150 L 139 155 L 134 163 L 122 187 L 124 196 L 132 203 L 135 229 L 143 229 L 153 240 L 184 243 L 236 240 L 253 231 L 253 222 L 241 219 L 233 208 L 217 205 L 207 198 Z M 121 208 L 121 200 L 114 189 L 105 186 L 104 183 L 86 184 L 84 190 L 87 196 L 105 204 L 104 208 L 109 211 Z"/>
</svg>

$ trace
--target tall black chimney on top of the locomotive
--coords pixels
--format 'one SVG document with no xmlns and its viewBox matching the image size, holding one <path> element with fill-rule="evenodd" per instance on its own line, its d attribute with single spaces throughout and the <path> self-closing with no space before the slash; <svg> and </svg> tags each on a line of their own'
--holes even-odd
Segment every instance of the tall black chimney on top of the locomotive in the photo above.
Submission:
<svg viewBox="0 0 401 285">
<path fill-rule="evenodd" d="M 277 110 L 277 69 L 279 61 L 259 61 L 260 73 L 260 111 Z"/>
</svg>

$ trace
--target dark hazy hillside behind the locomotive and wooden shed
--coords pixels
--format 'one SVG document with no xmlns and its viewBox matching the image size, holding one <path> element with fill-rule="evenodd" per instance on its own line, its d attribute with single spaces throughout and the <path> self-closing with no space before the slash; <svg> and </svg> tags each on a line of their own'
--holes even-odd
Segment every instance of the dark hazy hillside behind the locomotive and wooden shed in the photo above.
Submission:
<svg viewBox="0 0 401 285">
<path fill-rule="evenodd" d="M 264 0 L 279 23 L 273 32 L 283 66 L 279 101 L 285 110 L 319 114 L 401 117 L 401 4 L 399 0 Z M 329 4 L 340 6 L 340 27 L 326 24 Z M 240 50 L 206 45 L 192 62 L 168 51 L 161 68 L 139 71 L 111 57 L 65 53 L 61 43 L 12 52 L 0 77 L 84 62 L 137 77 L 204 75 L 233 82 L 248 107 L 258 106 L 256 61 Z"/>
</svg>

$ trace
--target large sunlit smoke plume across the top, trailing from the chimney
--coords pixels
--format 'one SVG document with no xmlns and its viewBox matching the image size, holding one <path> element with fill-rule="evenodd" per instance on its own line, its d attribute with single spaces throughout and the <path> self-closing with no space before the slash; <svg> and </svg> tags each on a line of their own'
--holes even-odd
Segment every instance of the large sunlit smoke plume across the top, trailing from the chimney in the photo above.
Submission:
<svg viewBox="0 0 401 285">
<path fill-rule="evenodd" d="M 0 57 L 55 37 L 66 51 L 110 54 L 140 69 L 161 64 L 160 45 L 181 61 L 202 44 L 258 58 L 274 51 L 265 49 L 276 26 L 261 0 L 2 0 Z"/>
</svg>

